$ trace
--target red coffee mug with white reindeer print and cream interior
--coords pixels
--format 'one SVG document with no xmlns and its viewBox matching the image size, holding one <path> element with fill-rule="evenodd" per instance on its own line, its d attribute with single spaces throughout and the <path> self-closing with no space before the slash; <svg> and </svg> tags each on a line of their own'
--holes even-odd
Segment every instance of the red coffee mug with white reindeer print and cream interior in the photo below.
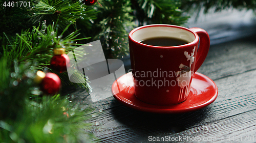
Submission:
<svg viewBox="0 0 256 143">
<path fill-rule="evenodd" d="M 157 37 L 178 38 L 188 43 L 178 46 L 140 43 Z M 155 105 L 172 105 L 185 101 L 189 96 L 194 72 L 204 62 L 209 45 L 209 36 L 201 28 L 152 24 L 132 30 L 129 34 L 129 46 L 136 97 Z"/>
</svg>

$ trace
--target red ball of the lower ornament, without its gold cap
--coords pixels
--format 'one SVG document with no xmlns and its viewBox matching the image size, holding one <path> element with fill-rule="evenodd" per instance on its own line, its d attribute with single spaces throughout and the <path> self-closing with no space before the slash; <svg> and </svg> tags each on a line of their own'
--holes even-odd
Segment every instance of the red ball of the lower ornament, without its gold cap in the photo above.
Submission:
<svg viewBox="0 0 256 143">
<path fill-rule="evenodd" d="M 54 95 L 59 92 L 61 81 L 55 73 L 47 73 L 42 79 L 41 91 L 47 95 Z"/>
</svg>

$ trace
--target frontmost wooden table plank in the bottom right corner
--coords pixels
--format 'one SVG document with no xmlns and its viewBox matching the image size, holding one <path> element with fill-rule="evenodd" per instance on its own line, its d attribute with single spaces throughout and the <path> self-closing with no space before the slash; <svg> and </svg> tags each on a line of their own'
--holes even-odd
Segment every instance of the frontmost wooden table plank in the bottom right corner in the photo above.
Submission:
<svg viewBox="0 0 256 143">
<path fill-rule="evenodd" d="M 191 142 L 192 137 L 205 139 L 207 142 L 256 142 L 255 118 L 256 109 L 172 134 L 170 137 L 185 136 L 184 142 Z"/>
</svg>

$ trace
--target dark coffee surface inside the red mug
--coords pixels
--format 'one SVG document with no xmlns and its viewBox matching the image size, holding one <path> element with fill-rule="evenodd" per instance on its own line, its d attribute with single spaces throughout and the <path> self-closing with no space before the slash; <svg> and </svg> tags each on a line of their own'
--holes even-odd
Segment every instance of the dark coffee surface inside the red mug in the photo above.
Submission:
<svg viewBox="0 0 256 143">
<path fill-rule="evenodd" d="M 148 38 L 145 40 L 140 41 L 143 44 L 146 45 L 152 45 L 152 46 L 179 46 L 189 43 L 186 40 L 178 39 L 178 38 L 172 38 L 172 37 L 154 37 L 154 38 Z"/>
</svg>

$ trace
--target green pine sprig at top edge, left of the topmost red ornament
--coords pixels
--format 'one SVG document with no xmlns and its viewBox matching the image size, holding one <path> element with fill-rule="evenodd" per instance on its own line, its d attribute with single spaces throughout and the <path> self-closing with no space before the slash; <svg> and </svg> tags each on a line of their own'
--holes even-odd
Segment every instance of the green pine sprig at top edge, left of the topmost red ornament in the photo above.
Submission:
<svg viewBox="0 0 256 143">
<path fill-rule="evenodd" d="M 65 28 L 69 23 L 75 23 L 87 13 L 81 7 L 81 3 L 74 1 L 40 0 L 35 1 L 33 5 L 30 12 L 30 21 L 33 24 L 45 20 L 49 24 L 58 20 L 60 27 Z"/>
</svg>

